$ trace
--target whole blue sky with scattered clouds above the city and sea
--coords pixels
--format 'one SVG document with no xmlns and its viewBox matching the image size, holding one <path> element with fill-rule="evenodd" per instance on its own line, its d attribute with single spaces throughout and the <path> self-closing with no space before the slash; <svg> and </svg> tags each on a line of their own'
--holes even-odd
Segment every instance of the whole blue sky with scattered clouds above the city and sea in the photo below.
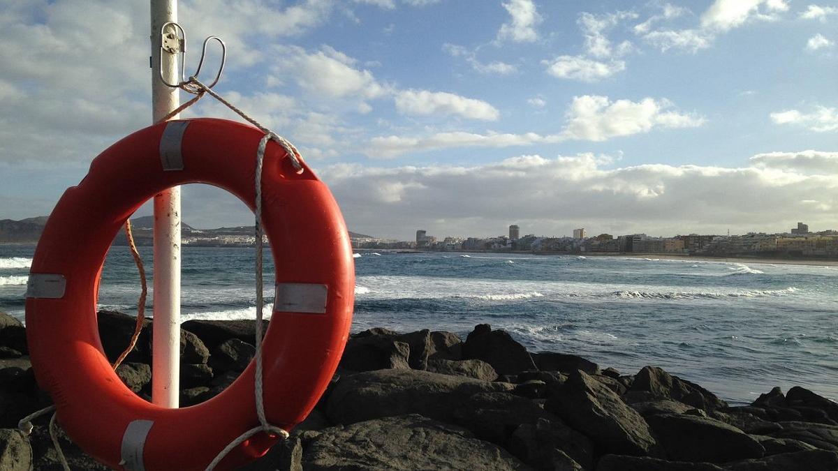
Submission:
<svg viewBox="0 0 838 471">
<path fill-rule="evenodd" d="M 0 219 L 19 219 L 149 124 L 148 7 L 0 5 Z M 179 14 L 191 51 L 225 39 L 216 90 L 301 148 L 357 232 L 838 228 L 835 2 L 204 0 Z M 187 116 L 234 117 L 210 98 Z M 251 215 L 189 185 L 184 220 Z"/>
</svg>

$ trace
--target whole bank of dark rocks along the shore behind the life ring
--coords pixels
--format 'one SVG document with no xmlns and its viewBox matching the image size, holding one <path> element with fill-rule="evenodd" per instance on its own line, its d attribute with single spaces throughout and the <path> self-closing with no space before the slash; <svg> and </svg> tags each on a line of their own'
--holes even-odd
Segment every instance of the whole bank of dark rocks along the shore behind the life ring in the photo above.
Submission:
<svg viewBox="0 0 838 471">
<path fill-rule="evenodd" d="M 99 313 L 114 359 L 133 318 Z M 254 355 L 253 321 L 189 321 L 181 339 L 181 404 L 206 401 Z M 148 324 L 117 374 L 148 397 Z M 0 469 L 60 469 L 49 405 L 28 363 L 25 330 L 0 313 Z M 59 433 L 70 467 L 106 469 Z M 634 375 L 576 355 L 527 352 L 502 330 L 370 329 L 347 344 L 334 381 L 292 437 L 247 466 L 268 469 L 831 470 L 838 404 L 802 387 L 729 406 L 647 366 Z"/>
</svg>

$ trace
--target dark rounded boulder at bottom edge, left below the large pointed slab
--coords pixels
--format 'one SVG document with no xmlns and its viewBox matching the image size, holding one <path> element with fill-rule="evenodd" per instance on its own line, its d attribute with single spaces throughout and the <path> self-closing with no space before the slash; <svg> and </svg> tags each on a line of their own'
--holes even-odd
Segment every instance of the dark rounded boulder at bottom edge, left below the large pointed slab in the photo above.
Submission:
<svg viewBox="0 0 838 471">
<path fill-rule="evenodd" d="M 568 468 L 566 457 L 580 468 L 592 468 L 593 443 L 560 420 L 540 418 L 522 424 L 508 443 L 511 453 L 536 469 Z"/>
</svg>

